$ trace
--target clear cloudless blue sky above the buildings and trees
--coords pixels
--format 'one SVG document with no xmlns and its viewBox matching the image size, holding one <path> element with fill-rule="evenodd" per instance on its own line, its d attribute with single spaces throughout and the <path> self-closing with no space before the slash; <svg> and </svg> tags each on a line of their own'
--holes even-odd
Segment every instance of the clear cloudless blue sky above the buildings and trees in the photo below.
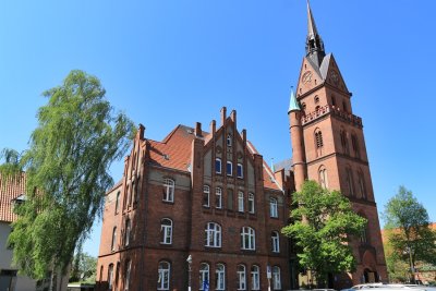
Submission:
<svg viewBox="0 0 436 291">
<path fill-rule="evenodd" d="M 436 221 L 434 0 L 312 0 L 353 112 L 363 118 L 382 211 L 403 184 Z M 287 109 L 306 35 L 304 0 L 74 0 L 0 3 L 0 148 L 23 150 L 45 89 L 73 69 L 146 137 L 238 111 L 267 161 L 291 153 Z M 111 168 L 118 181 L 121 162 Z M 85 251 L 97 256 L 101 225 Z"/>
</svg>

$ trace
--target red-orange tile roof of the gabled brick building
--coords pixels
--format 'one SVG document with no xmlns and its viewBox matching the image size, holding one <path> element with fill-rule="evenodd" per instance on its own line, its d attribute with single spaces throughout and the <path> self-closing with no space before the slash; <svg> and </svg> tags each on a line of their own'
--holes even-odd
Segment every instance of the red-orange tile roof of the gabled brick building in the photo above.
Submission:
<svg viewBox="0 0 436 291">
<path fill-rule="evenodd" d="M 210 140 L 209 133 L 202 132 L 202 135 L 206 142 Z M 194 137 L 194 129 L 179 124 L 162 142 L 146 140 L 152 146 L 149 150 L 152 162 L 161 167 L 187 172 L 191 163 L 191 146 Z M 249 148 L 252 154 L 258 154 L 250 142 Z M 264 186 L 281 191 L 275 182 L 272 171 L 265 161 Z"/>
</svg>

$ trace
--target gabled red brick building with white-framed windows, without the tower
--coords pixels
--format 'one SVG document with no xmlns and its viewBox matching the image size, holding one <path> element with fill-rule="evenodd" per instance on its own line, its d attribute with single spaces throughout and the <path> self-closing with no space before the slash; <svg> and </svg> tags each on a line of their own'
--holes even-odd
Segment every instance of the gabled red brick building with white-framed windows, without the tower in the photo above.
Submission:
<svg viewBox="0 0 436 291">
<path fill-rule="evenodd" d="M 272 173 L 246 141 L 246 132 L 238 132 L 235 111 L 227 118 L 223 108 L 221 120 L 219 129 L 211 122 L 210 133 L 199 124 L 179 125 L 161 143 L 145 138 L 140 128 L 123 180 L 107 195 L 97 268 L 101 290 L 109 281 L 113 290 L 186 290 L 190 255 L 193 290 L 201 289 L 201 264 L 209 268 L 210 289 L 222 284 L 225 290 L 266 290 L 267 266 L 279 270 L 279 280 L 271 279 L 275 290 L 290 288 L 288 240 L 280 233 L 288 221 L 289 191 L 283 189 L 289 189 L 289 178 L 283 170 Z M 170 196 L 168 181 L 174 183 Z M 272 214 L 271 198 L 274 209 L 277 203 Z M 168 221 L 172 233 L 165 237 L 162 223 Z M 220 228 L 218 241 L 207 240 L 209 223 Z M 278 250 L 272 250 L 272 233 Z M 168 283 L 159 277 L 159 264 L 169 269 Z M 217 283 L 219 266 L 225 271 Z M 245 279 L 238 280 L 243 268 Z"/>
</svg>

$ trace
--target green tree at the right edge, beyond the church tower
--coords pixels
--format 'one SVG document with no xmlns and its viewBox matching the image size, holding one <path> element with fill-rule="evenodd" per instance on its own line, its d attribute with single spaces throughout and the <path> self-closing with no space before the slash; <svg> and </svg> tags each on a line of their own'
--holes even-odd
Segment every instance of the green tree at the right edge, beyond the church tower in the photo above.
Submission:
<svg viewBox="0 0 436 291">
<path fill-rule="evenodd" d="M 409 264 L 412 280 L 416 262 L 436 264 L 436 233 L 429 228 L 427 210 L 411 191 L 400 186 L 385 205 L 383 216 L 389 245 L 395 250 L 388 262 L 401 259 Z"/>
</svg>

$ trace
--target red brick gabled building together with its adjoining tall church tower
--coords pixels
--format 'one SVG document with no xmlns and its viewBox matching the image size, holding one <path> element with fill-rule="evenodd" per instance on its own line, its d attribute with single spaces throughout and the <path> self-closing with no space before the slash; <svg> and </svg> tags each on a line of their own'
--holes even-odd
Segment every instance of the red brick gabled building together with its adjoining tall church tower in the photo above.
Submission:
<svg viewBox="0 0 436 291">
<path fill-rule="evenodd" d="M 331 287 L 387 280 L 362 119 L 308 3 L 307 15 L 288 111 L 290 169 L 268 167 L 226 107 L 207 132 L 201 123 L 178 125 L 159 142 L 140 125 L 123 177 L 107 193 L 98 290 L 299 289 L 311 279 L 298 274 L 292 241 L 280 230 L 305 180 L 340 190 L 368 220 L 350 242 L 358 269 L 332 275 Z"/>
</svg>

